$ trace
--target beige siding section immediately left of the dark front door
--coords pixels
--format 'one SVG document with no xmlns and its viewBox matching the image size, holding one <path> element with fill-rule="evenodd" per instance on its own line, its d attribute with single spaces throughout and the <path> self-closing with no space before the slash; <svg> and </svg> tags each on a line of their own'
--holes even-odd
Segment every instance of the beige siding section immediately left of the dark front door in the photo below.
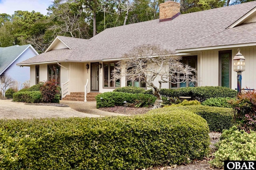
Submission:
<svg viewBox="0 0 256 170">
<path fill-rule="evenodd" d="M 84 63 L 69 63 L 70 92 L 84 92 L 86 79 L 84 75 Z M 88 74 L 89 74 L 88 69 Z M 86 72 L 87 74 L 87 72 Z"/>
</svg>

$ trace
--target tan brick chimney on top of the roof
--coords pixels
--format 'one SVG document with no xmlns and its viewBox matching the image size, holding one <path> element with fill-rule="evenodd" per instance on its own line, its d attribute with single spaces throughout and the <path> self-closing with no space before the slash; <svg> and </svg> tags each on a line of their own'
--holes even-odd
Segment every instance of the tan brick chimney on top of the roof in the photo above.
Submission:
<svg viewBox="0 0 256 170">
<path fill-rule="evenodd" d="M 180 3 L 166 1 L 159 5 L 159 22 L 170 21 L 180 15 Z"/>
</svg>

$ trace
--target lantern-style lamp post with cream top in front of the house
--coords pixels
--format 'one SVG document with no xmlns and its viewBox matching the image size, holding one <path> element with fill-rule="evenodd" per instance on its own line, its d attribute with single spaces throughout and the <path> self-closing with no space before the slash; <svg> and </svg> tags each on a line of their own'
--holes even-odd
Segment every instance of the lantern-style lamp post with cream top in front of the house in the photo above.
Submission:
<svg viewBox="0 0 256 170">
<path fill-rule="evenodd" d="M 245 70 L 245 58 L 240 53 L 240 49 L 238 49 L 238 53 L 233 59 L 234 61 L 234 71 L 237 72 L 237 92 L 241 92 L 241 82 L 242 82 L 242 72 Z"/>
</svg>

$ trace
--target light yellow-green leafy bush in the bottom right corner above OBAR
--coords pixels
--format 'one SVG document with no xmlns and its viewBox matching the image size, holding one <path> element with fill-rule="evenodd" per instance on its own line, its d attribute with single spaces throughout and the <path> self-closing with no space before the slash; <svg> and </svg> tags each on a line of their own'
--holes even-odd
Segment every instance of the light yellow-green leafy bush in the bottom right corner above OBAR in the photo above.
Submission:
<svg viewBox="0 0 256 170">
<path fill-rule="evenodd" d="M 216 145 L 218 150 L 210 164 L 223 167 L 224 160 L 256 160 L 256 132 L 250 134 L 237 127 L 223 131 L 220 142 Z"/>
</svg>

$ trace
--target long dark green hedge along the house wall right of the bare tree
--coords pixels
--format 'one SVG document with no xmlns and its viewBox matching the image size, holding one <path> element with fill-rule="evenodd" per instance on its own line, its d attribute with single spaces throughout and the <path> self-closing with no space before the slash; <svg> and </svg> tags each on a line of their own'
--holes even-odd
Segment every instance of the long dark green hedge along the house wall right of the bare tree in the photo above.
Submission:
<svg viewBox="0 0 256 170">
<path fill-rule="evenodd" d="M 152 90 L 147 90 L 146 94 L 152 94 Z M 219 86 L 185 87 L 179 89 L 161 89 L 160 94 L 165 97 L 190 96 L 192 100 L 203 102 L 209 98 L 235 98 L 237 91 Z"/>
</svg>

